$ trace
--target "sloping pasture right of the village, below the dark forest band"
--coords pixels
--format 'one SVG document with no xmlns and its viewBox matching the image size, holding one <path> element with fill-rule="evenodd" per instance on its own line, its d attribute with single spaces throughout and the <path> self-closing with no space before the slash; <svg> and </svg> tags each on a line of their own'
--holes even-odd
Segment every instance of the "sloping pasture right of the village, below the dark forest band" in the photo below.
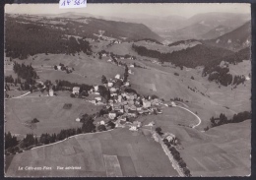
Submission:
<svg viewBox="0 0 256 180">
<path fill-rule="evenodd" d="M 170 98 L 180 97 L 193 112 L 197 112 L 202 124 L 197 127 L 203 130 L 210 124 L 212 116 L 224 113 L 228 118 L 233 114 L 250 110 L 251 82 L 246 81 L 236 89 L 222 87 L 210 83 L 201 76 L 202 68 L 183 70 L 161 67 L 147 61 L 139 61 L 148 69 L 134 68 L 134 75 L 130 75 L 132 89 L 143 94 L 157 94 L 168 101 Z M 179 76 L 174 76 L 177 72 Z M 194 80 L 191 80 L 191 77 Z M 189 90 L 188 87 L 196 91 Z M 206 95 L 202 95 L 202 93 Z"/>
</svg>

